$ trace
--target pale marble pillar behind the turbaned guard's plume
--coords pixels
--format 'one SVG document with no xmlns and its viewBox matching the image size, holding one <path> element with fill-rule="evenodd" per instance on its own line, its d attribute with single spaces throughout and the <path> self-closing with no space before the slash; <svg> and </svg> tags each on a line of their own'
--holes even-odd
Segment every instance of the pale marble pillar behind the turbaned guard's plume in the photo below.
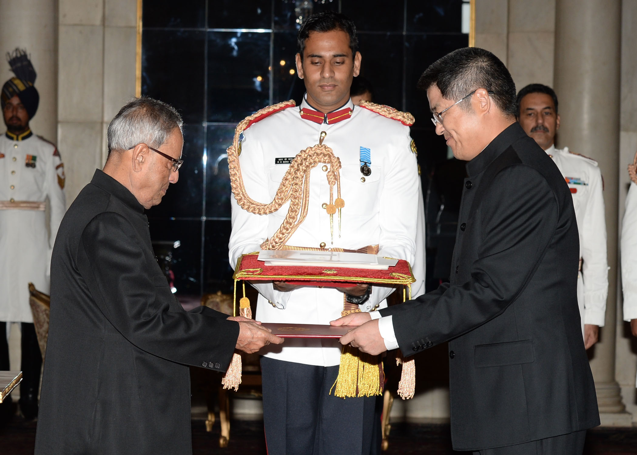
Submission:
<svg viewBox="0 0 637 455">
<path fill-rule="evenodd" d="M 57 1 L 0 0 L 0 11 L 0 83 L 13 76 L 6 53 L 16 47 L 26 49 L 38 73 L 35 86 L 40 96 L 38 112 L 29 124 L 34 133 L 56 142 Z"/>
</svg>

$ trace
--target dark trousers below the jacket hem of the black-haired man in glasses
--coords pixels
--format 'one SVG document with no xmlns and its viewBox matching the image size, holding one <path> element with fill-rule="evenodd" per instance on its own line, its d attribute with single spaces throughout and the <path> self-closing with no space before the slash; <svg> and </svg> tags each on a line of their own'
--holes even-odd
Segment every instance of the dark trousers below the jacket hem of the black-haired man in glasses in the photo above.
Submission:
<svg viewBox="0 0 637 455">
<path fill-rule="evenodd" d="M 586 430 L 538 439 L 524 444 L 473 452 L 473 455 L 582 455 Z"/>
</svg>

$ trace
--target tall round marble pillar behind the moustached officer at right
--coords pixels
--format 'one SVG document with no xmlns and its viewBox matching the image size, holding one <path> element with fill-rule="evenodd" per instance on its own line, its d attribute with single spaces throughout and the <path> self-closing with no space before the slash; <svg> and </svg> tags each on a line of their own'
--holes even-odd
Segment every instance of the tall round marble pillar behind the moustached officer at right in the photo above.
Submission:
<svg viewBox="0 0 637 455">
<path fill-rule="evenodd" d="M 631 426 L 615 380 L 617 232 L 620 112 L 620 0 L 557 0 L 555 92 L 559 97 L 559 147 L 589 156 L 604 177 L 608 232 L 606 322 L 589 351 L 603 425 Z"/>
</svg>

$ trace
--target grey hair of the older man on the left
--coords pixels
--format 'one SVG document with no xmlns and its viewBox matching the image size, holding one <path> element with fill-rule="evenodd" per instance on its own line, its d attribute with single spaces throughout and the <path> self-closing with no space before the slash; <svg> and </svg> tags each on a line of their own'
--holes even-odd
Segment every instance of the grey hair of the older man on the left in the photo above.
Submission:
<svg viewBox="0 0 637 455">
<path fill-rule="evenodd" d="M 161 146 L 175 128 L 182 131 L 182 116 L 173 106 L 148 97 L 132 98 L 108 125 L 108 155 L 140 143 Z"/>
</svg>

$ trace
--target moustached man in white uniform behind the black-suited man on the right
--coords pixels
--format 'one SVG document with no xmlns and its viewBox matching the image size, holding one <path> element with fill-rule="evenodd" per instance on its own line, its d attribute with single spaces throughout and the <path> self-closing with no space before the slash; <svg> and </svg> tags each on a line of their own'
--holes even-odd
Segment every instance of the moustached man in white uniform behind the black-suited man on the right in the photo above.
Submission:
<svg viewBox="0 0 637 455">
<path fill-rule="evenodd" d="M 577 300 L 580 305 L 584 345 L 589 349 L 604 326 L 608 296 L 608 261 L 606 259 L 606 221 L 603 180 L 597 161 L 555 148 L 559 129 L 557 96 L 550 87 L 539 83 L 527 85 L 517 95 L 518 121 L 553 158 L 573 195 L 575 217 L 580 233 L 580 274 Z"/>
</svg>

